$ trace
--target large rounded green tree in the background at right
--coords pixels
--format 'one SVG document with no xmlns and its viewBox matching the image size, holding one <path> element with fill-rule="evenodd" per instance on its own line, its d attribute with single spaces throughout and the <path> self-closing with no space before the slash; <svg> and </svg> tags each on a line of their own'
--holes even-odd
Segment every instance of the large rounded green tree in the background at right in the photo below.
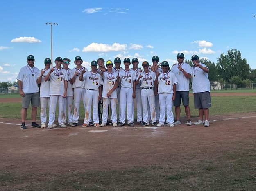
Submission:
<svg viewBox="0 0 256 191">
<path fill-rule="evenodd" d="M 242 79 L 249 78 L 251 68 L 245 58 L 241 58 L 241 52 L 231 49 L 227 54 L 222 53 L 217 61 L 217 70 L 221 78 L 230 81 L 232 76 Z"/>
</svg>

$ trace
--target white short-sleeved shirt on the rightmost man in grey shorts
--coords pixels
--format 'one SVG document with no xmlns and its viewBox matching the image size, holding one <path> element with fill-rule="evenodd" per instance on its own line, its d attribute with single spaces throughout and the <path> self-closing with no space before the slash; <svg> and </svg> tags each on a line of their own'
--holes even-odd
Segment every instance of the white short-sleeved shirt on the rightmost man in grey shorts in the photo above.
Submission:
<svg viewBox="0 0 256 191">
<path fill-rule="evenodd" d="M 206 67 L 205 64 L 201 63 L 201 66 Z M 208 67 L 206 67 L 208 68 Z M 210 92 L 210 81 L 208 73 L 204 72 L 199 67 L 191 67 L 192 69 L 192 90 L 193 93 L 200 93 L 208 91 Z"/>
</svg>

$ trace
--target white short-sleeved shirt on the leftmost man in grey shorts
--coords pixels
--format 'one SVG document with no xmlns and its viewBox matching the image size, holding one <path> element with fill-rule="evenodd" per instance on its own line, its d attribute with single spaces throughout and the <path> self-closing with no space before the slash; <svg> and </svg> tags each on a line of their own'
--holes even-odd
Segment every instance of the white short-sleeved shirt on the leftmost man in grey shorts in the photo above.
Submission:
<svg viewBox="0 0 256 191">
<path fill-rule="evenodd" d="M 17 80 L 22 82 L 22 91 L 24 93 L 37 93 L 39 87 L 36 82 L 36 77 L 39 75 L 40 70 L 36 67 L 30 67 L 28 64 L 22 67 L 18 73 Z"/>
</svg>

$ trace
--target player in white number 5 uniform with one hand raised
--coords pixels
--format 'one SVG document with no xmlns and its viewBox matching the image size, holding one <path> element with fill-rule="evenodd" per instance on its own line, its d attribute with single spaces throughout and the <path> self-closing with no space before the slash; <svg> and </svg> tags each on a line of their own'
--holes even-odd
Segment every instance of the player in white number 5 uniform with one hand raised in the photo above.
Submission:
<svg viewBox="0 0 256 191">
<path fill-rule="evenodd" d="M 82 127 L 88 127 L 91 119 L 91 105 L 93 104 L 93 124 L 95 127 L 100 127 L 98 113 L 98 103 L 102 94 L 102 78 L 97 73 L 97 61 L 91 62 L 91 71 L 82 71 L 83 75 L 79 76 L 79 80 L 85 81 L 85 117 Z"/>
</svg>

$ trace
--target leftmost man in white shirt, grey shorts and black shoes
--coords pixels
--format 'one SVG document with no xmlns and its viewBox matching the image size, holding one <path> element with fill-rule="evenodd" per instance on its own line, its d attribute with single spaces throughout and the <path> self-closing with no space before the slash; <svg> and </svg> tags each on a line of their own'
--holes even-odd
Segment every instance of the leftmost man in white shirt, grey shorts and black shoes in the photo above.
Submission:
<svg viewBox="0 0 256 191">
<path fill-rule="evenodd" d="M 39 87 L 36 82 L 36 76 L 39 74 L 39 69 L 34 67 L 35 58 L 33 55 L 27 56 L 27 65 L 20 69 L 17 76 L 18 85 L 20 89 L 20 96 L 22 96 L 22 109 L 21 109 L 21 129 L 27 129 L 25 120 L 27 118 L 27 108 L 31 102 L 32 107 L 32 127 L 39 127 L 36 124 L 37 107 L 39 107 Z"/>
</svg>

